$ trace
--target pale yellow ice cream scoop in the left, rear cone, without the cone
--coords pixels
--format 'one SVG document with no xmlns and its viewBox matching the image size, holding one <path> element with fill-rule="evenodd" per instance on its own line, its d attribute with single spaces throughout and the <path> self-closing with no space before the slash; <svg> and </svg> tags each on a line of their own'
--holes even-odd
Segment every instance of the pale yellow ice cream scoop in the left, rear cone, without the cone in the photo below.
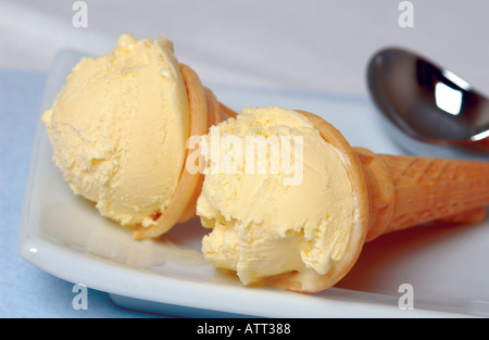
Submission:
<svg viewBox="0 0 489 340">
<path fill-rule="evenodd" d="M 42 121 L 63 177 L 103 216 L 150 226 L 165 210 L 189 130 L 171 41 L 125 34 L 110 53 L 83 58 Z"/>
</svg>

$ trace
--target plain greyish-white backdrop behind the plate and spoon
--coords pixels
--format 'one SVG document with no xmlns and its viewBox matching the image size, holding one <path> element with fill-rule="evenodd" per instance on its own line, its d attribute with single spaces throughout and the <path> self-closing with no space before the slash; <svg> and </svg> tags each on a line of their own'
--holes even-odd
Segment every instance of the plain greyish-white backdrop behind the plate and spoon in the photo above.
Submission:
<svg viewBox="0 0 489 340">
<path fill-rule="evenodd" d="M 413 49 L 489 93 L 489 2 L 412 0 L 0 0 L 0 67 L 47 71 L 60 49 L 111 50 L 122 33 L 166 36 L 206 85 L 367 96 L 365 67 L 386 46 Z"/>
</svg>

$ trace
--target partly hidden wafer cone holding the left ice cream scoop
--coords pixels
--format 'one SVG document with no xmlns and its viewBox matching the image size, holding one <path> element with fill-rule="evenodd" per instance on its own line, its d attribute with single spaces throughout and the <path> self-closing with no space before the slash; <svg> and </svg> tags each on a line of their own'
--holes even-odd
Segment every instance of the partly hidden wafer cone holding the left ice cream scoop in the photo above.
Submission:
<svg viewBox="0 0 489 340">
<path fill-rule="evenodd" d="M 202 86 L 199 76 L 192 68 L 180 64 L 180 73 L 187 88 L 190 112 L 189 137 L 205 135 L 212 125 L 227 117 L 236 116 L 233 110 L 217 101 L 210 89 Z M 189 150 L 187 149 L 186 159 Z M 193 217 L 202 181 L 202 174 L 188 173 L 184 164 L 178 185 L 166 210 L 154 216 L 154 225 L 147 228 L 139 226 L 133 237 L 135 239 L 159 237 L 168 231 L 175 224 L 184 223 Z"/>
</svg>

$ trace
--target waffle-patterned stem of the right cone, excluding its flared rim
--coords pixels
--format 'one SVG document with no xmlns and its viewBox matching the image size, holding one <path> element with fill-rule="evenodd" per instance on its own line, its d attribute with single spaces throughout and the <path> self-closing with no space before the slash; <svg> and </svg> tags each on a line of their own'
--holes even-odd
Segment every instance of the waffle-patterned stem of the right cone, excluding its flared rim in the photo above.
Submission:
<svg viewBox="0 0 489 340">
<path fill-rule="evenodd" d="M 465 212 L 476 214 L 489 203 L 489 163 L 355 150 L 369 190 L 367 241 L 425 223 L 477 222 L 484 217 L 480 213 L 476 218 L 462 216 Z"/>
</svg>

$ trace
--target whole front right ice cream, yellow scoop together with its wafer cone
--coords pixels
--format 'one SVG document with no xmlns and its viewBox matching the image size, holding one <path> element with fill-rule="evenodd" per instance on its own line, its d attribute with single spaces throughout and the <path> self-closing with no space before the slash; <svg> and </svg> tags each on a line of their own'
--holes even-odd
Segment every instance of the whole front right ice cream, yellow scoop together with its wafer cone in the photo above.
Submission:
<svg viewBox="0 0 489 340">
<path fill-rule="evenodd" d="M 489 163 L 375 154 L 304 111 L 247 108 L 205 140 L 197 214 L 212 230 L 202 251 L 244 285 L 317 292 L 350 270 L 366 241 L 427 223 L 474 224 L 489 203 Z"/>
</svg>

